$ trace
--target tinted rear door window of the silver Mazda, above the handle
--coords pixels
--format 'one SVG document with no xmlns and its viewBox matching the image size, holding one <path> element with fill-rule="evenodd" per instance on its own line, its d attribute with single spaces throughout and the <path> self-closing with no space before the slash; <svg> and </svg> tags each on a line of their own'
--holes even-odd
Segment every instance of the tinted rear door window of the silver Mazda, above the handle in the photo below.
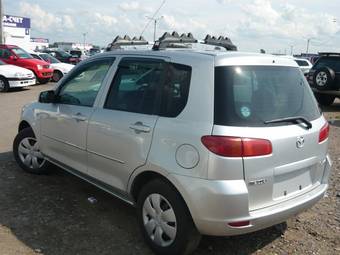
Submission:
<svg viewBox="0 0 340 255">
<path fill-rule="evenodd" d="M 153 114 L 164 83 L 165 62 L 123 59 L 112 82 L 105 108 Z"/>
</svg>

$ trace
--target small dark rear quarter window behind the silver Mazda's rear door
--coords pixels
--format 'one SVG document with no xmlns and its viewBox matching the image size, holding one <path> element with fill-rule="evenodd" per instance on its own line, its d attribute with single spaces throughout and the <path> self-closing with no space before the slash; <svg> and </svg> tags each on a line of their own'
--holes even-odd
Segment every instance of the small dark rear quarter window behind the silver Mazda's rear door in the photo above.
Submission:
<svg viewBox="0 0 340 255">
<path fill-rule="evenodd" d="M 184 109 L 189 94 L 191 67 L 169 64 L 163 88 L 161 115 L 176 117 Z"/>
</svg>

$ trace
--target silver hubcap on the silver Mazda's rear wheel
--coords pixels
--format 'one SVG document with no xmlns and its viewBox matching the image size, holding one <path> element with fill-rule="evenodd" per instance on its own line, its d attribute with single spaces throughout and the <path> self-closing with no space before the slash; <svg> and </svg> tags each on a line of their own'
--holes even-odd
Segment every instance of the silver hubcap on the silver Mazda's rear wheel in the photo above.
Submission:
<svg viewBox="0 0 340 255">
<path fill-rule="evenodd" d="M 143 205 L 143 222 L 150 239 L 161 247 L 172 244 L 177 222 L 171 204 L 160 194 L 149 195 Z"/>
</svg>

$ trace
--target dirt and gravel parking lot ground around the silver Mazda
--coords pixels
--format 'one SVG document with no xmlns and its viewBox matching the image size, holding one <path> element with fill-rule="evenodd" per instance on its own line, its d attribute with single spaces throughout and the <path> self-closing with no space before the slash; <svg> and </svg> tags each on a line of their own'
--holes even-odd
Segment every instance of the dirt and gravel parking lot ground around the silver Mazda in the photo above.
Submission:
<svg viewBox="0 0 340 255">
<path fill-rule="evenodd" d="M 21 107 L 53 86 L 0 93 L 0 254 L 151 254 L 134 208 L 57 167 L 35 176 L 14 162 Z M 340 102 L 323 110 L 333 160 L 327 196 L 284 224 L 203 237 L 195 254 L 340 254 Z"/>
</svg>

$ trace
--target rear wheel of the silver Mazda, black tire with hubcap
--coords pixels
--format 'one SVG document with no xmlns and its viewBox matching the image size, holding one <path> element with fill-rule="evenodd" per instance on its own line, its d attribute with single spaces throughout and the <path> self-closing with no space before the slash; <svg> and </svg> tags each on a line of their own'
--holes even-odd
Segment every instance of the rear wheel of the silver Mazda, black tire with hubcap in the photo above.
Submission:
<svg viewBox="0 0 340 255">
<path fill-rule="evenodd" d="M 200 242 L 201 235 L 183 198 L 161 179 L 142 188 L 137 218 L 146 243 L 156 254 L 190 254 Z"/>
</svg>

